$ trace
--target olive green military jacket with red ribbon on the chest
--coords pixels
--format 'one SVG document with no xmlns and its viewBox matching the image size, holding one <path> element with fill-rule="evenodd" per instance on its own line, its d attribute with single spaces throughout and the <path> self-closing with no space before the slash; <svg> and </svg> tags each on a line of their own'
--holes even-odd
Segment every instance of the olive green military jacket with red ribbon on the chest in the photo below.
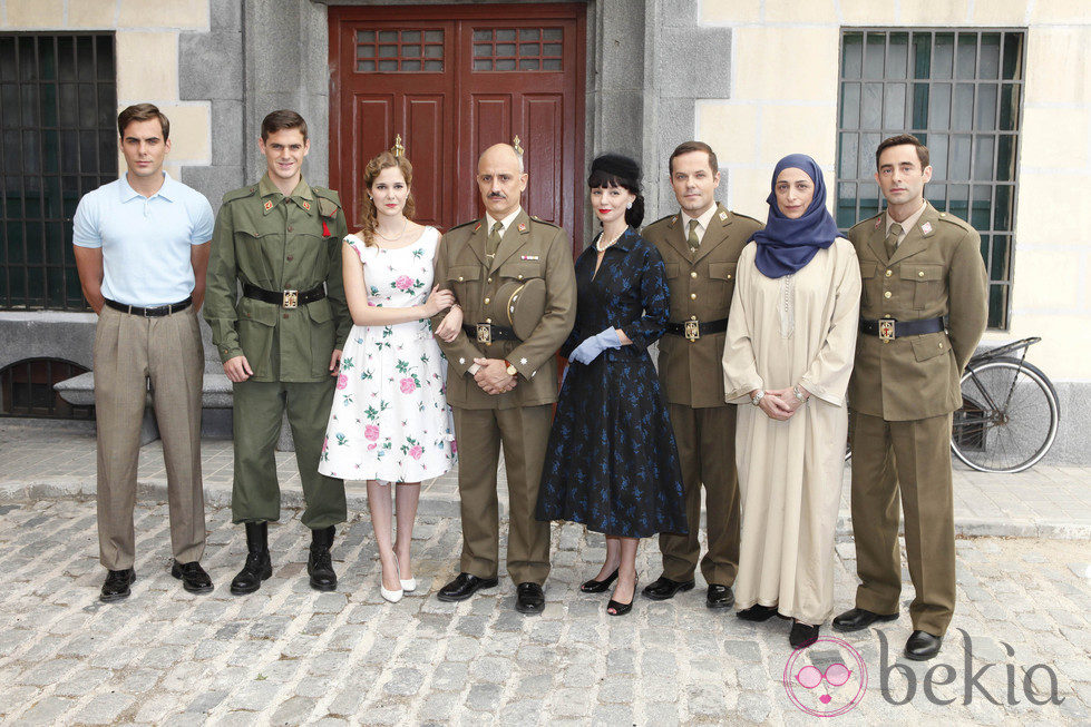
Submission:
<svg viewBox="0 0 1091 727">
<path fill-rule="evenodd" d="M 303 179 L 290 197 L 267 174 L 224 195 L 204 307 L 220 358 L 245 355 L 254 371 L 251 381 L 329 379 L 330 356 L 352 326 L 341 279 L 347 234 L 338 193 Z M 323 282 L 327 297 L 295 308 L 240 297 L 241 283 L 302 293 Z"/>
</svg>

